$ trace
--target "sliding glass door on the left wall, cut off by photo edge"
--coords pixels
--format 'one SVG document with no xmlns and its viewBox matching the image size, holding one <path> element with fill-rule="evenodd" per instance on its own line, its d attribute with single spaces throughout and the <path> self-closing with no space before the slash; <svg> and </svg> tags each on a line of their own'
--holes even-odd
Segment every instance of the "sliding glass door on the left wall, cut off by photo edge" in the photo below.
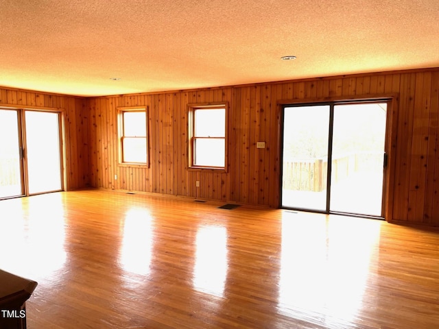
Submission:
<svg viewBox="0 0 439 329">
<path fill-rule="evenodd" d="M 0 199 L 62 190 L 60 119 L 0 108 Z"/>
</svg>

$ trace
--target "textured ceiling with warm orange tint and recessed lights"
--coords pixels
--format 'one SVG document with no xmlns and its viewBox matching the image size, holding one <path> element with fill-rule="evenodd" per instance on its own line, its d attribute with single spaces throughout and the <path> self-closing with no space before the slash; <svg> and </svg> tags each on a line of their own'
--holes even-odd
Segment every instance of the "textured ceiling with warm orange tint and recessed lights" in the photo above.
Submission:
<svg viewBox="0 0 439 329">
<path fill-rule="evenodd" d="M 438 0 L 1 0 L 0 12 L 0 86 L 66 95 L 439 66 Z"/>
</svg>

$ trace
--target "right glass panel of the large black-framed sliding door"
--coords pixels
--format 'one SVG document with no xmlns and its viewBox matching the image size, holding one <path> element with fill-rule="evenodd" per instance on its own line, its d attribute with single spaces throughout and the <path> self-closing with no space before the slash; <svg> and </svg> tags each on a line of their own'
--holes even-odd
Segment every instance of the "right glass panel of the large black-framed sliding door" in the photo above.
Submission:
<svg viewBox="0 0 439 329">
<path fill-rule="evenodd" d="M 334 106 L 330 210 L 381 217 L 386 103 Z"/>
</svg>

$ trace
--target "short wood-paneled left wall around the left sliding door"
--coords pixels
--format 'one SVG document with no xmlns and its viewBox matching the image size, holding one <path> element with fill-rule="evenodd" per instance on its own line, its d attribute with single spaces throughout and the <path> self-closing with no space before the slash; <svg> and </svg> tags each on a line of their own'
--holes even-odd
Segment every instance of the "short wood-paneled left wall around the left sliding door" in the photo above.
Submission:
<svg viewBox="0 0 439 329">
<path fill-rule="evenodd" d="M 64 117 L 66 190 L 84 188 L 88 177 L 86 99 L 27 90 L 0 88 L 0 106 L 60 110 Z M 44 129 L 42 127 L 41 129 Z"/>
</svg>

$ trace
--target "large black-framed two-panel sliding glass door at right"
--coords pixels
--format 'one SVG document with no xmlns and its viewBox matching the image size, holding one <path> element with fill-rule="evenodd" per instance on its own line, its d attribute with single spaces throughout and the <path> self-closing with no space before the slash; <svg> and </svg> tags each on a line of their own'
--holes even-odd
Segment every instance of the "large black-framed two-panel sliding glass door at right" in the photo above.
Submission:
<svg viewBox="0 0 439 329">
<path fill-rule="evenodd" d="M 281 206 L 383 216 L 386 102 L 283 109 Z"/>
</svg>

